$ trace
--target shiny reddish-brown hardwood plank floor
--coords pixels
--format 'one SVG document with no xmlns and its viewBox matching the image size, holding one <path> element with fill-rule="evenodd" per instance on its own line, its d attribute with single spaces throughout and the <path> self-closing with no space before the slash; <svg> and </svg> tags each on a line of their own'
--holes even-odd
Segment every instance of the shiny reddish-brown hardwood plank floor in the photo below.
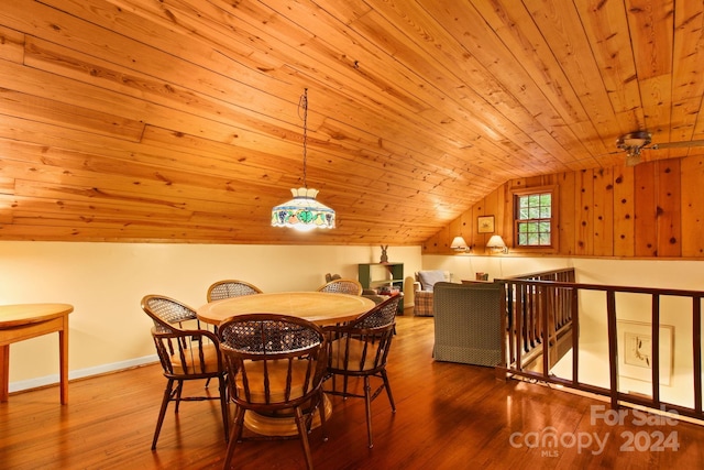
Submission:
<svg viewBox="0 0 704 470">
<path fill-rule="evenodd" d="M 384 395 L 372 404 L 369 449 L 363 401 L 333 397 L 329 441 L 319 429 L 310 435 L 316 468 L 701 468 L 704 427 L 656 424 L 652 415 L 640 425 L 628 408 L 614 424 L 600 417 L 613 417 L 604 402 L 433 361 L 432 318 L 399 317 L 397 331 L 388 367 L 397 413 Z M 56 387 L 11 395 L 0 404 L 0 468 L 221 468 L 217 403 L 184 403 L 178 415 L 169 407 L 150 450 L 164 385 L 161 369 L 148 365 L 72 382 L 65 406 Z M 548 447 L 550 431 L 557 446 Z M 235 459 L 242 469 L 305 468 L 298 440 L 243 442 Z"/>
</svg>

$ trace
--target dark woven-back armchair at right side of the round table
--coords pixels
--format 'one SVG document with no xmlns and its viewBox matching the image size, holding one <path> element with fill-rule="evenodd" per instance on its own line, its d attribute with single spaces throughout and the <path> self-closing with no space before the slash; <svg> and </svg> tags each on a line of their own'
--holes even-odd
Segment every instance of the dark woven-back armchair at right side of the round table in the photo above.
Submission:
<svg viewBox="0 0 704 470">
<path fill-rule="evenodd" d="M 372 401 L 386 390 L 392 412 L 396 413 L 392 387 L 386 374 L 386 362 L 394 338 L 396 311 L 400 296 L 393 296 L 348 325 L 324 328 L 328 335 L 328 373 L 333 379 L 332 390 L 326 391 L 343 397 L 364 398 L 366 408 L 366 433 L 370 448 L 372 442 Z M 334 378 L 343 379 L 342 391 L 336 389 Z M 364 393 L 348 390 L 350 378 L 362 378 Z M 371 378 L 382 380 L 372 392 Z"/>
</svg>

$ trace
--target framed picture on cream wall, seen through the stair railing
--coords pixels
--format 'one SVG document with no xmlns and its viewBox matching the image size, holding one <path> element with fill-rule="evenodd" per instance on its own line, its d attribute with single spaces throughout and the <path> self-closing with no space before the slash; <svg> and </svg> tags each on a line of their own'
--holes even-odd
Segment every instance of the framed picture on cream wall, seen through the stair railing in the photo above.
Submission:
<svg viewBox="0 0 704 470">
<path fill-rule="evenodd" d="M 618 374 L 652 382 L 652 331 L 650 324 L 619 320 Z M 672 375 L 672 336 L 674 327 L 660 326 L 660 384 L 670 385 Z"/>
</svg>

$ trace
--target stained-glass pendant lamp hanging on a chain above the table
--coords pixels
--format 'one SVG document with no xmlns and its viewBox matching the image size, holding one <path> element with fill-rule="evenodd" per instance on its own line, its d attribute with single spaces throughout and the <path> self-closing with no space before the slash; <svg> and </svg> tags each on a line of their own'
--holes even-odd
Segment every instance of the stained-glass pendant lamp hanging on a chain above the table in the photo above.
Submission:
<svg viewBox="0 0 704 470">
<path fill-rule="evenodd" d="M 297 230 L 333 229 L 334 210 L 316 200 L 318 189 L 309 188 L 306 184 L 306 159 L 308 138 L 308 88 L 304 90 L 298 103 L 298 111 L 302 110 L 304 119 L 304 186 L 293 188 L 293 199 L 279 204 L 272 209 L 273 227 L 290 227 Z"/>
</svg>

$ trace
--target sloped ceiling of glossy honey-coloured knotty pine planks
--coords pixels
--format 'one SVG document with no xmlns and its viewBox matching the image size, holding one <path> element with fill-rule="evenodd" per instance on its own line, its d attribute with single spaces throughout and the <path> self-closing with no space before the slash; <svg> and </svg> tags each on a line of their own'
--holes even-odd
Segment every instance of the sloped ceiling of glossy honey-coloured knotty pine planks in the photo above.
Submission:
<svg viewBox="0 0 704 470">
<path fill-rule="evenodd" d="M 0 240 L 420 244 L 508 179 L 704 138 L 702 2 L 13 0 Z M 338 228 L 270 227 L 307 184 Z M 646 150 L 644 160 L 697 147 Z"/>
</svg>

